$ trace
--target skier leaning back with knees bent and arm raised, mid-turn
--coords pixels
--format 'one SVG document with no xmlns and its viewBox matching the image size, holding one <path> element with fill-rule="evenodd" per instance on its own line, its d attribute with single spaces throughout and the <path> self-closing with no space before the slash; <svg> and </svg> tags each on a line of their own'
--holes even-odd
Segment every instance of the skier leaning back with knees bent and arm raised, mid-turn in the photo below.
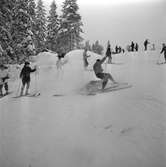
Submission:
<svg viewBox="0 0 166 167">
<path fill-rule="evenodd" d="M 107 56 L 105 56 L 101 60 L 97 59 L 96 62 L 95 62 L 95 64 L 93 65 L 93 70 L 95 72 L 96 77 L 103 80 L 103 82 L 102 82 L 102 89 L 105 88 L 108 80 L 111 80 L 114 84 L 117 83 L 113 79 L 113 77 L 112 77 L 112 75 L 110 73 L 104 73 L 103 72 L 102 64 L 104 63 L 104 61 L 106 60 L 106 58 L 107 58 Z"/>
</svg>

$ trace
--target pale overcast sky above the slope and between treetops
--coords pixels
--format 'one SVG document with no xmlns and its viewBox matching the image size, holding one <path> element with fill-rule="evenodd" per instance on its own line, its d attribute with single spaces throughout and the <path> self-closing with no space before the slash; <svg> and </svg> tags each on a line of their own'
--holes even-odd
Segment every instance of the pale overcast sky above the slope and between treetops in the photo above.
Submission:
<svg viewBox="0 0 166 167">
<path fill-rule="evenodd" d="M 52 0 L 43 0 L 49 8 Z M 64 0 L 55 0 L 60 10 Z M 77 0 L 84 38 L 106 44 L 166 39 L 165 0 Z"/>
</svg>

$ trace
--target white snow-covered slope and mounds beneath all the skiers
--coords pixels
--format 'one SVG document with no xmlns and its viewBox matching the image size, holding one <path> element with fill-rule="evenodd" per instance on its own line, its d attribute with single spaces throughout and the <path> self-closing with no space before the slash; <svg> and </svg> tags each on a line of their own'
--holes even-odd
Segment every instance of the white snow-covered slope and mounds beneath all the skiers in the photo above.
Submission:
<svg viewBox="0 0 166 167">
<path fill-rule="evenodd" d="M 100 56 L 89 54 L 91 69 Z M 156 64 L 158 51 L 114 55 L 105 71 L 133 87 L 95 96 L 77 94 L 96 79 L 84 71 L 81 50 L 59 71 L 56 56 L 46 55 L 32 75 L 31 92 L 41 96 L 12 98 L 15 82 L 0 100 L 0 167 L 166 166 L 166 65 Z"/>
</svg>

